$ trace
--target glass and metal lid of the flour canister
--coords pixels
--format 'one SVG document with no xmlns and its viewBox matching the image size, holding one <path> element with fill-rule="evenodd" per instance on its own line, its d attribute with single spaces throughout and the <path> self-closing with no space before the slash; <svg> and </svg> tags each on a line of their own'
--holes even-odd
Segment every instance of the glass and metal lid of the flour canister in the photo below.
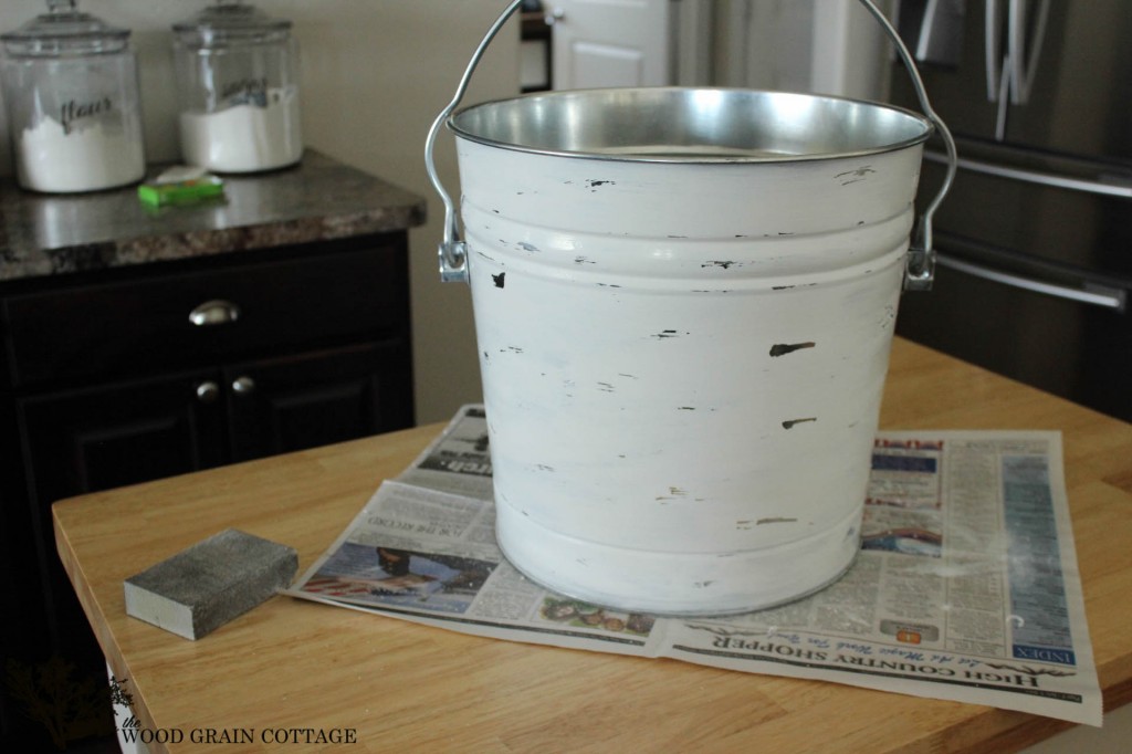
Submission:
<svg viewBox="0 0 1132 754">
<path fill-rule="evenodd" d="M 14 55 L 60 57 L 119 52 L 130 31 L 110 26 L 101 18 L 82 12 L 75 0 L 48 0 L 48 12 L 36 16 L 14 32 L 0 34 L 5 50 Z"/>
</svg>

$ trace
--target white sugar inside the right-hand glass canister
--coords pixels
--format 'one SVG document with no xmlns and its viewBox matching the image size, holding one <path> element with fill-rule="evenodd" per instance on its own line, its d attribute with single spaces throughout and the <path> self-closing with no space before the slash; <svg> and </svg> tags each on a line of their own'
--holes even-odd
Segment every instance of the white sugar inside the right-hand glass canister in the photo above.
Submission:
<svg viewBox="0 0 1132 754">
<path fill-rule="evenodd" d="M 271 89 L 266 106 L 239 104 L 213 113 L 181 113 L 181 157 L 222 173 L 283 168 L 302 156 L 299 95 Z"/>
</svg>

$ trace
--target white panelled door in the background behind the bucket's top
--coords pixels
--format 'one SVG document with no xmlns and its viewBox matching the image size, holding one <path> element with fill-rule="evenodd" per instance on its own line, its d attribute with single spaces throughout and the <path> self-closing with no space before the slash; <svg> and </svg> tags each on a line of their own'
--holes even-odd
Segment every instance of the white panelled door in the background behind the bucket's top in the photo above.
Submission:
<svg viewBox="0 0 1132 754">
<path fill-rule="evenodd" d="M 549 0 L 554 87 L 672 83 L 671 0 Z"/>
</svg>

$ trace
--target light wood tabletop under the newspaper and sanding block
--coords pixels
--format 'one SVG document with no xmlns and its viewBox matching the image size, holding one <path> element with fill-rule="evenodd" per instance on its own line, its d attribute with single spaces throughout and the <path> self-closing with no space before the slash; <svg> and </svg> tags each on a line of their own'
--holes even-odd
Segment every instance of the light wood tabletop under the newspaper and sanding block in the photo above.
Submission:
<svg viewBox="0 0 1132 754">
<path fill-rule="evenodd" d="M 900 339 L 881 426 L 1063 432 L 1105 709 L 1132 700 L 1132 426 Z M 174 752 L 209 748 L 190 740 L 194 730 L 250 731 L 255 748 L 269 729 L 314 731 L 294 735 L 321 736 L 319 751 L 353 742 L 374 752 L 823 753 L 1013 752 L 1069 727 L 832 683 L 494 641 L 286 597 L 197 642 L 126 615 L 123 579 L 229 526 L 295 547 L 305 571 L 440 429 L 57 503 L 59 555 L 140 727 L 182 731 Z"/>
</svg>

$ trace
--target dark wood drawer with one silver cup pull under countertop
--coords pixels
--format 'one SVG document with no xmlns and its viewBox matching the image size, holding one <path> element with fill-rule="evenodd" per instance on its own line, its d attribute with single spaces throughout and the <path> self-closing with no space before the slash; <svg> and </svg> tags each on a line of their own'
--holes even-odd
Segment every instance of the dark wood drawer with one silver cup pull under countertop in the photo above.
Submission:
<svg viewBox="0 0 1132 754">
<path fill-rule="evenodd" d="M 12 295 L 3 312 L 10 379 L 70 382 L 408 332 L 406 286 L 404 245 L 391 240 Z"/>
</svg>

